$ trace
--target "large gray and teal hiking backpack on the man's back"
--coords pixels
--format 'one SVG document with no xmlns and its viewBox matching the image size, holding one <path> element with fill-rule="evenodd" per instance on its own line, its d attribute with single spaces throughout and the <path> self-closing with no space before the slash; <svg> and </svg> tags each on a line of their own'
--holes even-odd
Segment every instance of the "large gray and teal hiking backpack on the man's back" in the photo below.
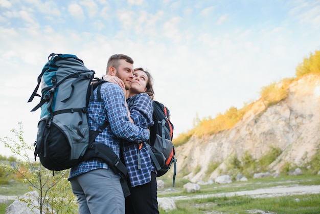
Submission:
<svg viewBox="0 0 320 214">
<path fill-rule="evenodd" d="M 94 78 L 94 74 L 75 55 L 49 55 L 28 101 L 31 102 L 35 96 L 41 97 L 39 104 L 31 110 L 36 111 L 41 107 L 35 159 L 38 156 L 44 167 L 60 171 L 81 161 L 100 158 L 121 176 L 120 182 L 126 197 L 130 195 L 125 181 L 128 169 L 110 147 L 95 142 L 99 133 L 109 124 L 108 121 L 104 121 L 97 130 L 89 130 L 89 99 L 93 98 L 93 90 L 100 92 L 101 83 L 105 82 Z M 40 84 L 42 96 L 37 94 Z"/>
</svg>

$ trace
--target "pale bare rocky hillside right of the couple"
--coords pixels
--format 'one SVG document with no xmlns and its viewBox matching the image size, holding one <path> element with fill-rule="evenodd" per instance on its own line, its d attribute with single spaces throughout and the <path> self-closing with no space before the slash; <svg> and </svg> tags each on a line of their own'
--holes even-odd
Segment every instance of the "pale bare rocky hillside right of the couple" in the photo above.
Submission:
<svg viewBox="0 0 320 214">
<path fill-rule="evenodd" d="M 176 147 L 177 174 L 192 182 L 208 179 L 208 166 L 221 163 L 209 178 L 226 172 L 235 155 L 245 152 L 259 160 L 271 147 L 282 153 L 269 165 L 281 170 L 285 163 L 301 166 L 310 161 L 320 144 L 320 76 L 310 74 L 292 81 L 288 96 L 266 108 L 263 100 L 252 108 L 231 130 L 211 136 L 196 136 Z"/>
</svg>

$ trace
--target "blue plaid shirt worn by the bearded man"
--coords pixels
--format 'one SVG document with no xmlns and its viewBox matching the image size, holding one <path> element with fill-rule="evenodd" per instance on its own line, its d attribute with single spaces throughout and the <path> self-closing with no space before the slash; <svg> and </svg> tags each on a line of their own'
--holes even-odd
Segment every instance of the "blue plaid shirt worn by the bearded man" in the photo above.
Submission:
<svg viewBox="0 0 320 214">
<path fill-rule="evenodd" d="M 105 119 L 109 121 L 109 124 L 97 136 L 96 142 L 108 145 L 119 157 L 121 139 L 131 141 L 129 144 L 136 145 L 149 139 L 148 130 L 129 121 L 125 96 L 119 85 L 109 82 L 103 83 L 101 85 L 101 101 L 98 101 L 97 91 L 94 91 L 94 100 L 90 101 L 88 105 L 89 129 L 97 130 Z M 136 143 L 132 143 L 132 141 Z M 69 179 L 99 168 L 108 168 L 108 165 L 99 159 L 83 161 L 70 169 Z"/>
</svg>

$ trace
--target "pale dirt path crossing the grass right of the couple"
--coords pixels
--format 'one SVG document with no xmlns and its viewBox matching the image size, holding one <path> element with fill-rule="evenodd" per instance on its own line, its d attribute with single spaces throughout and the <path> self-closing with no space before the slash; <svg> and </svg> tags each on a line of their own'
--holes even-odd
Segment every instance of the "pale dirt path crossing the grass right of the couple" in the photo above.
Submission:
<svg viewBox="0 0 320 214">
<path fill-rule="evenodd" d="M 177 200 L 189 200 L 189 199 L 201 199 L 210 197 L 232 197 L 232 196 L 251 196 L 253 198 L 264 197 L 279 197 L 279 196 L 294 196 L 305 194 L 320 194 L 320 185 L 294 185 L 294 186 L 276 186 L 270 188 L 261 188 L 247 191 L 226 192 L 218 194 L 198 195 L 198 196 L 175 196 L 168 197 L 175 201 Z"/>
</svg>

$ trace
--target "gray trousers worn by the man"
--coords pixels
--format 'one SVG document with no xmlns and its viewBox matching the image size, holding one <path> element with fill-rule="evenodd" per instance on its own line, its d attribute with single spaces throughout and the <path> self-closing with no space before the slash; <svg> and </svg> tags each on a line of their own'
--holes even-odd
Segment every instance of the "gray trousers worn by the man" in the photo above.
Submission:
<svg viewBox="0 0 320 214">
<path fill-rule="evenodd" d="M 120 177 L 110 169 L 96 169 L 70 179 L 78 197 L 79 214 L 123 214 L 125 200 Z"/>
</svg>

